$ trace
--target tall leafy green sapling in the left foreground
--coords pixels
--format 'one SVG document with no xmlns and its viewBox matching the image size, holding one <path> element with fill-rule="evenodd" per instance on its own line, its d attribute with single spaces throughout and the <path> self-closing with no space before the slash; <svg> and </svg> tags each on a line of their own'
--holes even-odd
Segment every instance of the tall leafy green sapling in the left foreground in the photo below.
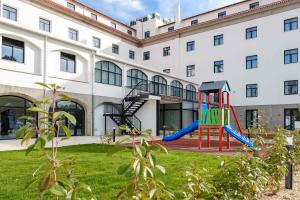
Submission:
<svg viewBox="0 0 300 200">
<path fill-rule="evenodd" d="M 56 101 L 60 97 L 64 100 L 71 100 L 67 95 L 59 93 L 62 87 L 55 84 L 37 83 L 45 89 L 51 91 L 49 98 L 43 98 L 33 102 L 33 107 L 28 111 L 37 113 L 38 120 L 31 116 L 23 116 L 22 119 L 27 121 L 27 124 L 22 126 L 16 132 L 16 138 L 22 138 L 21 144 L 28 144 L 32 141 L 32 137 L 36 135 L 38 138 L 29 145 L 26 150 L 26 155 L 33 150 L 39 150 L 45 158 L 45 163 L 41 164 L 33 173 L 33 179 L 28 183 L 26 189 L 38 182 L 38 191 L 41 197 L 45 194 L 53 196 L 54 199 L 63 197 L 65 199 L 79 199 L 78 192 L 84 190 L 88 194 L 92 193 L 90 186 L 80 183 L 72 177 L 75 158 L 69 157 L 58 159 L 58 146 L 63 140 L 71 137 L 71 131 L 64 124 L 67 118 L 73 125 L 76 124 L 76 118 L 65 112 L 56 111 Z M 50 107 L 50 111 L 46 111 Z M 63 132 L 65 137 L 59 137 Z M 46 144 L 50 143 L 50 150 L 46 149 Z M 41 172 L 41 169 L 46 167 L 46 170 Z M 62 171 L 64 176 L 60 176 L 58 171 Z M 90 195 L 91 196 L 91 195 Z M 94 199 L 94 198 L 92 198 Z"/>
</svg>

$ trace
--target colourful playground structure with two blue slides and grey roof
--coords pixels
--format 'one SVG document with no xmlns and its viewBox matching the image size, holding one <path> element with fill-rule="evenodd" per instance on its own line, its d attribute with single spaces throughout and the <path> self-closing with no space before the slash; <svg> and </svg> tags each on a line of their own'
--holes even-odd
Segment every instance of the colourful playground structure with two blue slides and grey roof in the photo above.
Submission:
<svg viewBox="0 0 300 200">
<path fill-rule="evenodd" d="M 214 97 L 212 100 L 211 98 Z M 225 100 L 226 99 L 226 100 Z M 206 130 L 207 147 L 211 147 L 210 134 L 212 130 L 219 132 L 219 151 L 223 149 L 223 135 L 226 131 L 226 147 L 230 149 L 230 136 L 243 143 L 249 148 L 253 148 L 253 141 L 243 135 L 237 114 L 233 106 L 230 105 L 230 87 L 227 81 L 203 82 L 198 91 L 198 111 L 199 119 L 188 127 L 177 131 L 173 135 L 163 137 L 163 141 L 177 140 L 184 135 L 198 129 L 198 148 L 202 146 L 202 135 Z M 230 113 L 233 113 L 238 131 L 230 124 Z"/>
</svg>

